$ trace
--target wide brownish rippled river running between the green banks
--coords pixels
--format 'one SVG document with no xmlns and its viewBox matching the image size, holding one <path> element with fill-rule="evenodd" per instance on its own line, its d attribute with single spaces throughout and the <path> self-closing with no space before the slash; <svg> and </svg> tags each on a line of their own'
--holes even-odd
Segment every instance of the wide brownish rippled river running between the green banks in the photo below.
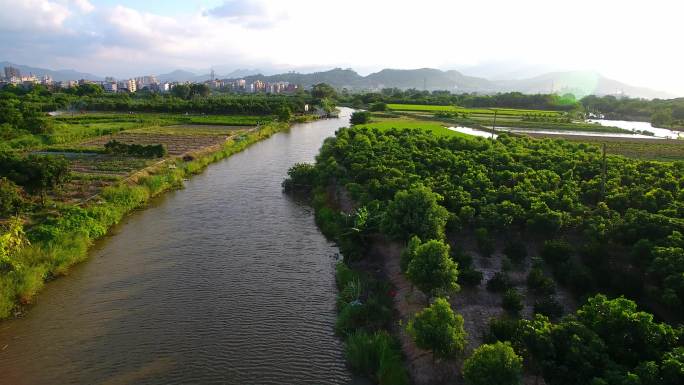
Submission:
<svg viewBox="0 0 684 385">
<path fill-rule="evenodd" d="M 0 384 L 350 384 L 337 248 L 282 194 L 348 123 L 297 124 L 209 166 L 0 323 Z"/>
</svg>

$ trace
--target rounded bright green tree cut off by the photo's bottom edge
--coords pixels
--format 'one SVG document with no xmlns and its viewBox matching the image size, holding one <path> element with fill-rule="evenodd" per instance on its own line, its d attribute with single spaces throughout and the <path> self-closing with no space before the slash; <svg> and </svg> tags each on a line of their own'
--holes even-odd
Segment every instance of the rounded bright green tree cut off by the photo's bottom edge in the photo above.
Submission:
<svg viewBox="0 0 684 385">
<path fill-rule="evenodd" d="M 480 345 L 463 364 L 469 385 L 518 385 L 522 383 L 522 358 L 506 342 Z"/>
</svg>

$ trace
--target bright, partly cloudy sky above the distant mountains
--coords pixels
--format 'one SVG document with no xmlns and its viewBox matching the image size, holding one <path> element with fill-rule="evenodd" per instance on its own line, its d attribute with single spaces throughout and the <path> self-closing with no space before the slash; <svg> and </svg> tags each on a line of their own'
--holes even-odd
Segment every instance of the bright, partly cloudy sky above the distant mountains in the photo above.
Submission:
<svg viewBox="0 0 684 385">
<path fill-rule="evenodd" d="M 0 60 L 175 69 L 592 70 L 684 96 L 681 0 L 0 0 Z"/>
</svg>

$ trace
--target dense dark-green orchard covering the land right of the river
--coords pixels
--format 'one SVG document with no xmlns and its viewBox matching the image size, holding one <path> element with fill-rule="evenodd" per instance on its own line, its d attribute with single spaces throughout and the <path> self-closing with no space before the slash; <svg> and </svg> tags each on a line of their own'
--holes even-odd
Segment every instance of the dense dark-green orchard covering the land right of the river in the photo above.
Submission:
<svg viewBox="0 0 684 385">
<path fill-rule="evenodd" d="M 401 259 L 400 279 L 425 292 L 427 309 L 458 311 L 467 288 L 484 284 L 466 277 L 499 269 L 486 280 L 500 296 L 485 341 L 495 348 L 463 364 L 480 343 L 469 334 L 464 354 L 442 354 L 461 349 L 460 316 L 441 305 L 443 315 L 418 311 L 408 331 L 393 329 L 437 353 L 435 368 L 464 365 L 469 383 L 485 371 L 515 384 L 522 357 L 525 376 L 551 385 L 670 384 L 684 380 L 683 180 L 682 162 L 604 157 L 585 143 L 357 126 L 326 140 L 315 165 L 294 168 L 286 185 L 316 192 L 317 222 L 336 234 L 346 263 L 378 263 L 369 250 L 379 240 L 405 248 L 381 254 Z M 466 325 L 479 322 L 470 316 Z M 442 337 L 420 338 L 419 320 Z"/>
</svg>

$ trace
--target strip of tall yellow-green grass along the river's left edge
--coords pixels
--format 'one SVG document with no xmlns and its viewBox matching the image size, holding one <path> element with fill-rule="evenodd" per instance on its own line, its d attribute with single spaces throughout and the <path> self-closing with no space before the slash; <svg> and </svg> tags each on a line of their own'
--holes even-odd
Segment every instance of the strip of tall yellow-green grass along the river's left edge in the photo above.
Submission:
<svg viewBox="0 0 684 385">
<path fill-rule="evenodd" d="M 31 244 L 14 259 L 14 268 L 0 271 L 0 319 L 16 314 L 21 305 L 31 303 L 46 281 L 65 274 L 71 266 L 88 257 L 95 240 L 131 211 L 143 207 L 154 196 L 182 187 L 182 181 L 201 172 L 210 163 L 229 157 L 270 137 L 288 126 L 271 123 L 258 130 L 226 141 L 217 151 L 201 153 L 189 161 L 170 159 L 146 170 L 136 183 L 104 188 L 84 205 L 55 203 L 36 213 L 27 236 Z"/>
</svg>

